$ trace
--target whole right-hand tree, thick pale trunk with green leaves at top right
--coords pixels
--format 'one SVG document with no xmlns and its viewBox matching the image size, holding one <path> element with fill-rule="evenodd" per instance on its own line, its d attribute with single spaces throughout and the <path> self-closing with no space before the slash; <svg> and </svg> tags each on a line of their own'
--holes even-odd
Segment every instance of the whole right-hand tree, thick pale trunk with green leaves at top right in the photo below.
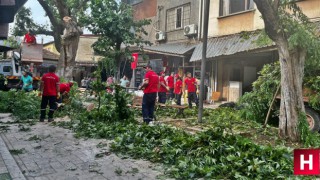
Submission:
<svg viewBox="0 0 320 180">
<path fill-rule="evenodd" d="M 295 0 L 254 0 L 262 14 L 265 31 L 278 48 L 281 69 L 279 135 L 300 140 L 299 114 L 304 112 L 302 80 L 306 56 L 319 57 L 315 27 Z M 317 58 L 313 58 L 317 59 Z M 301 117 L 301 116 L 300 116 Z M 300 118 L 301 119 L 301 118 Z"/>
</svg>

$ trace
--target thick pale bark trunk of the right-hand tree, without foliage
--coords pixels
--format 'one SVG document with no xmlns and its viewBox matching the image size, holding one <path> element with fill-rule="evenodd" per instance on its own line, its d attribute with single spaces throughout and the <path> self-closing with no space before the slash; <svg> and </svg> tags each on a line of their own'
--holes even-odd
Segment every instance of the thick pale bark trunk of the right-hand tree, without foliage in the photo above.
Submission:
<svg viewBox="0 0 320 180">
<path fill-rule="evenodd" d="M 280 24 L 280 0 L 254 0 L 261 12 L 267 35 L 277 44 L 281 68 L 281 104 L 279 136 L 299 141 L 299 112 L 304 112 L 302 80 L 306 50 L 289 49 L 288 37 Z M 282 14 L 283 15 L 283 14 Z M 280 30 L 280 31 L 279 31 Z"/>
</svg>

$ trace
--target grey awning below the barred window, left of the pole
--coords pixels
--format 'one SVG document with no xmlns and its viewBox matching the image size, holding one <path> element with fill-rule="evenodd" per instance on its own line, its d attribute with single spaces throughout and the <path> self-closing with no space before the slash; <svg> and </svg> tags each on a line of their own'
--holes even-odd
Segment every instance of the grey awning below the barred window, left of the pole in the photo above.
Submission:
<svg viewBox="0 0 320 180">
<path fill-rule="evenodd" d="M 151 52 L 155 54 L 184 57 L 187 53 L 191 52 L 196 46 L 197 44 L 173 43 L 160 44 L 157 46 L 145 46 L 143 49 L 146 52 Z"/>
</svg>

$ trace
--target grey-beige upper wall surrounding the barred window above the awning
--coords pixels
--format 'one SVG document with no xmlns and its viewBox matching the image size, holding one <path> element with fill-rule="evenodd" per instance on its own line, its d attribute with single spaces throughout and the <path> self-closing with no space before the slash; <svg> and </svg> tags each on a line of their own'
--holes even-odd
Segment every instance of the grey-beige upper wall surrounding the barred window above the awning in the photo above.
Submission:
<svg viewBox="0 0 320 180">
<path fill-rule="evenodd" d="M 199 0 L 158 0 L 158 7 L 161 9 L 158 10 L 158 29 L 166 32 L 167 43 L 171 42 L 179 42 L 179 41 L 188 41 L 191 40 L 187 36 L 183 34 L 183 27 L 181 29 L 176 29 L 172 31 L 167 31 L 166 23 L 167 23 L 167 10 L 182 6 L 184 4 L 190 4 L 191 12 L 190 12 L 190 24 L 198 25 L 199 21 Z M 184 24 L 185 26 L 187 24 Z M 165 42 L 162 42 L 165 43 Z"/>
</svg>

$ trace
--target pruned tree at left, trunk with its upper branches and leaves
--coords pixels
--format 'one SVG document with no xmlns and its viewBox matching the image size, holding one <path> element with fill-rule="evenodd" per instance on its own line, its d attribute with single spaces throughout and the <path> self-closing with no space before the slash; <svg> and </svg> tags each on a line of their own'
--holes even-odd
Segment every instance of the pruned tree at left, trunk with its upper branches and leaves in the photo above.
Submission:
<svg viewBox="0 0 320 180">
<path fill-rule="evenodd" d="M 35 28 L 36 33 L 54 37 L 56 49 L 60 52 L 59 74 L 69 80 L 72 79 L 72 69 L 75 66 L 79 36 L 82 34 L 82 30 L 79 28 L 81 25 L 77 21 L 79 16 L 86 11 L 88 1 L 38 0 L 50 20 L 50 30 L 37 26 L 30 18 L 30 10 L 22 9 L 16 16 L 17 19 L 18 17 L 23 18 L 20 18 L 22 22 L 18 23 L 19 26 L 14 28 L 14 32 L 25 31 L 24 25 L 26 24 L 24 23 L 27 23 L 31 28 Z"/>
</svg>

